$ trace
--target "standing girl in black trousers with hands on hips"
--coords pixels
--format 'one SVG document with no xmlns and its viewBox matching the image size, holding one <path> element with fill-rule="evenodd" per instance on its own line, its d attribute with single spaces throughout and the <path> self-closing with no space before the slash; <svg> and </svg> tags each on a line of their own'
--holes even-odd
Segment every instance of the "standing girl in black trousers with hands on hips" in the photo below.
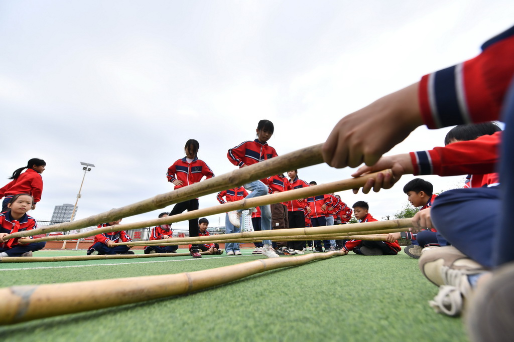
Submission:
<svg viewBox="0 0 514 342">
<path fill-rule="evenodd" d="M 214 177 L 212 170 L 207 164 L 198 159 L 200 144 L 194 139 L 189 139 L 184 146 L 186 157 L 177 160 L 168 168 L 168 181 L 175 185 L 175 189 L 198 183 L 204 176 L 206 179 Z M 175 204 L 170 216 L 198 210 L 198 198 L 190 199 Z M 198 236 L 198 219 L 189 220 L 189 236 Z M 193 258 L 201 258 L 198 251 L 198 244 L 193 244 L 190 254 Z"/>
</svg>

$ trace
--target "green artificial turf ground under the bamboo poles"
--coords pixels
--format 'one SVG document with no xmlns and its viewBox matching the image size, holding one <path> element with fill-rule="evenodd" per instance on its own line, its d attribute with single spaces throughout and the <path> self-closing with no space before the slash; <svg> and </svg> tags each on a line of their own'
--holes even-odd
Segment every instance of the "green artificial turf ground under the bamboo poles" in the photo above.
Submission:
<svg viewBox="0 0 514 342">
<path fill-rule="evenodd" d="M 263 257 L 5 263 L 0 268 L 12 270 L 0 271 L 0 286 L 190 272 L 257 258 Z M 53 268 L 92 263 L 96 266 Z M 23 268 L 31 269 L 14 270 Z M 461 319 L 436 314 L 428 306 L 436 293 L 417 260 L 403 252 L 350 254 L 190 295 L 4 326 L 0 336 L 4 341 L 467 340 Z"/>
</svg>

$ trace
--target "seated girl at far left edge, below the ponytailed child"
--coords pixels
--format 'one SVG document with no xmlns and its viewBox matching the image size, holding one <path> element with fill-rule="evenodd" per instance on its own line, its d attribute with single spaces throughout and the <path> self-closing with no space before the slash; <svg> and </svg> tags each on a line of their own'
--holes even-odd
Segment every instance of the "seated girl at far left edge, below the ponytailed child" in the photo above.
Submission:
<svg viewBox="0 0 514 342">
<path fill-rule="evenodd" d="M 9 234 L 36 229 L 36 220 L 27 215 L 33 203 L 30 195 L 14 195 L 7 203 L 7 212 L 0 214 L 0 257 L 32 256 L 32 252 L 45 246 L 46 242 L 18 243 L 20 238 L 4 240 Z"/>
</svg>

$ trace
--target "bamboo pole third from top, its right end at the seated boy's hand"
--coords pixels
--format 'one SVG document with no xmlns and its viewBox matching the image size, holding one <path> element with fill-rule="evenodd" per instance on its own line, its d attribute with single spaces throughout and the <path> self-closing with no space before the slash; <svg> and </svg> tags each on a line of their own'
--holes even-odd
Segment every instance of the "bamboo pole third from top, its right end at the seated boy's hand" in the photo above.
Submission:
<svg viewBox="0 0 514 342">
<path fill-rule="evenodd" d="M 330 234 L 330 235 L 339 235 L 339 233 L 351 233 L 351 235 L 357 235 L 356 232 L 359 232 L 358 235 L 365 234 L 364 232 L 369 231 L 382 231 L 386 229 L 406 229 L 412 226 L 412 219 L 398 219 L 398 220 L 387 220 L 387 221 L 373 221 L 373 222 L 363 222 L 363 223 L 352 223 L 352 224 L 337 224 L 337 225 L 325 225 L 319 227 L 304 227 L 304 228 L 289 228 L 289 229 L 277 229 L 270 231 L 257 231 L 257 232 L 244 232 L 244 233 L 233 233 L 233 234 L 225 234 L 223 241 L 227 241 L 229 239 L 246 239 L 246 238 L 261 238 L 261 239 L 274 239 L 276 236 L 284 236 L 284 235 L 304 235 L 307 240 L 311 240 L 311 235 L 320 235 L 320 234 Z M 405 230 L 402 230 L 405 231 Z M 342 234 L 341 234 L 342 235 Z M 176 244 L 185 244 L 187 243 L 198 243 L 198 242 L 210 242 L 221 240 L 218 235 L 209 235 L 209 236 L 198 236 L 198 237 L 184 237 L 184 238 L 173 238 L 167 239 L 172 241 L 167 242 L 176 242 Z M 164 240 L 152 240 L 152 241 L 129 241 L 129 242 L 118 242 L 114 245 L 162 245 L 162 241 Z"/>
</svg>

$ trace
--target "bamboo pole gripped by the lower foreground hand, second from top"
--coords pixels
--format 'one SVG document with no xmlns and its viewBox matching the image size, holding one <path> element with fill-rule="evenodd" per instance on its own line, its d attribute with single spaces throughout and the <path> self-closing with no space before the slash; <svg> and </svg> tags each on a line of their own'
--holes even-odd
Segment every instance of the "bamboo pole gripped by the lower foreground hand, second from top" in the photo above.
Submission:
<svg viewBox="0 0 514 342">
<path fill-rule="evenodd" d="M 251 165 L 251 166 L 253 166 L 253 165 Z M 245 169 L 246 168 L 247 167 L 245 167 Z M 191 211 L 191 212 L 187 212 L 187 213 L 181 213 L 181 214 L 168 216 L 168 217 L 161 217 L 161 218 L 157 218 L 157 219 L 133 222 L 133 223 L 116 224 L 114 226 L 107 226 L 107 227 L 99 228 L 99 229 L 89 231 L 89 232 L 60 235 L 60 236 L 51 236 L 51 237 L 46 236 L 46 237 L 41 237 L 41 238 L 31 239 L 31 240 L 20 239 L 19 243 L 80 239 L 80 238 L 85 238 L 85 237 L 94 236 L 97 234 L 102 234 L 102 233 L 107 233 L 107 232 L 115 232 L 115 231 L 120 231 L 120 230 L 128 231 L 128 230 L 144 228 L 144 227 L 149 227 L 149 226 L 154 226 L 154 225 L 170 224 L 170 223 L 174 223 L 174 222 L 186 221 L 186 220 L 203 217 L 203 216 L 226 213 L 226 212 L 233 211 L 233 210 L 240 210 L 240 209 L 265 205 L 265 204 L 286 202 L 286 201 L 299 199 L 299 198 L 307 198 L 307 197 L 311 197 L 311 196 L 324 195 L 324 194 L 329 194 L 329 193 L 333 193 L 333 192 L 345 191 L 345 190 L 354 189 L 354 188 L 363 186 L 366 183 L 366 181 L 368 181 L 368 179 L 375 178 L 377 174 L 378 173 L 372 173 L 372 174 L 365 175 L 365 176 L 358 177 L 358 178 L 350 178 L 350 179 L 344 179 L 344 180 L 335 181 L 335 182 L 331 182 L 331 183 L 318 184 L 318 185 L 314 185 L 314 186 L 293 189 L 291 191 L 286 191 L 286 192 L 282 192 L 282 193 L 254 197 L 251 199 L 242 199 L 240 201 L 228 202 L 225 204 L 215 205 L 215 206 L 211 206 L 208 208 L 203 208 L 203 209 L 199 209 L 199 210 L 195 210 L 195 211 Z M 210 179 L 206 180 L 205 182 L 207 182 L 209 180 Z M 198 184 L 198 183 L 195 183 L 195 184 Z M 195 184 L 190 185 L 190 186 L 194 186 Z M 78 221 L 76 221 L 76 222 L 78 222 Z M 54 227 L 56 225 L 52 225 L 52 227 Z M 46 228 L 44 228 L 44 229 L 46 229 Z M 26 231 L 26 232 L 22 232 L 22 233 L 24 234 L 23 236 L 39 235 L 39 234 L 41 234 L 41 232 L 39 232 L 38 230 L 39 229 L 35 229 L 35 230 Z M 14 233 L 14 234 L 8 235 L 8 236 L 4 237 L 4 240 L 10 239 L 11 237 L 17 237 L 17 236 L 19 236 L 19 234 L 21 234 L 21 233 Z"/>
</svg>

